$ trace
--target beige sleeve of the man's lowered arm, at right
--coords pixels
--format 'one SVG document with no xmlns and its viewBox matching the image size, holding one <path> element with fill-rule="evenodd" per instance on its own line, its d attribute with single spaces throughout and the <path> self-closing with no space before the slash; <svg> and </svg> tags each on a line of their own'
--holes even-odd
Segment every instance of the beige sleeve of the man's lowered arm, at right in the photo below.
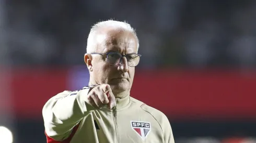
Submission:
<svg viewBox="0 0 256 143">
<path fill-rule="evenodd" d="M 162 132 L 164 134 L 165 143 L 174 143 L 171 124 L 165 114 L 163 115 L 163 118 L 164 120 L 161 126 L 162 126 Z"/>
</svg>

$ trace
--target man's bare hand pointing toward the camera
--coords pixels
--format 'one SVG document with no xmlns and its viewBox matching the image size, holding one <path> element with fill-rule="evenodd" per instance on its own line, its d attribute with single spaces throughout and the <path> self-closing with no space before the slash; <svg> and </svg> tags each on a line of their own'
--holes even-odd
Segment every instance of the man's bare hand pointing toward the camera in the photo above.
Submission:
<svg viewBox="0 0 256 143">
<path fill-rule="evenodd" d="M 115 97 L 109 84 L 101 84 L 90 90 L 86 102 L 94 108 L 100 109 L 107 105 L 112 109 L 115 106 Z"/>
</svg>

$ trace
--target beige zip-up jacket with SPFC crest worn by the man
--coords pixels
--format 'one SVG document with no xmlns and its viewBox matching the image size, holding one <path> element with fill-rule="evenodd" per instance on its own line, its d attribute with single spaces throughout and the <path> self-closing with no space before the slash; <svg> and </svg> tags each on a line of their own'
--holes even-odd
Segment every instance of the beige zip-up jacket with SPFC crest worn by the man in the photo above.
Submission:
<svg viewBox="0 0 256 143">
<path fill-rule="evenodd" d="M 85 102 L 91 86 L 64 91 L 43 107 L 48 143 L 174 143 L 166 115 L 130 96 L 117 106 L 95 109 Z"/>
</svg>

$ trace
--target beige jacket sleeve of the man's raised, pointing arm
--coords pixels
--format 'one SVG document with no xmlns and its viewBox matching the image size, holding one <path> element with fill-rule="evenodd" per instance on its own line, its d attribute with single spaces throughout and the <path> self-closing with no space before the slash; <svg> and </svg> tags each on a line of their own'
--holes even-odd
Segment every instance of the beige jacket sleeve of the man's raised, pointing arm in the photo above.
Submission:
<svg viewBox="0 0 256 143">
<path fill-rule="evenodd" d="M 92 87 L 91 87 L 92 88 Z M 48 100 L 42 110 L 46 136 L 62 141 L 93 107 L 85 102 L 91 88 L 64 91 Z"/>
</svg>

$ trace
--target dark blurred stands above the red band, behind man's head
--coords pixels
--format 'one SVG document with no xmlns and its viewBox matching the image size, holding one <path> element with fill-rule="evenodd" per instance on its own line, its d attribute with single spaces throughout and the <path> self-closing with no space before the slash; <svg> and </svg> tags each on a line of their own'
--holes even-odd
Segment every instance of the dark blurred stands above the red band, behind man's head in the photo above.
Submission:
<svg viewBox="0 0 256 143">
<path fill-rule="evenodd" d="M 10 65 L 83 64 L 77 55 L 85 53 L 89 27 L 114 18 L 135 25 L 141 67 L 251 68 L 256 64 L 255 7 L 254 1 L 228 0 L 11 0 L 6 1 L 6 17 L 0 16 L 7 37 L 1 41 L 8 47 L 2 51 Z"/>
</svg>

